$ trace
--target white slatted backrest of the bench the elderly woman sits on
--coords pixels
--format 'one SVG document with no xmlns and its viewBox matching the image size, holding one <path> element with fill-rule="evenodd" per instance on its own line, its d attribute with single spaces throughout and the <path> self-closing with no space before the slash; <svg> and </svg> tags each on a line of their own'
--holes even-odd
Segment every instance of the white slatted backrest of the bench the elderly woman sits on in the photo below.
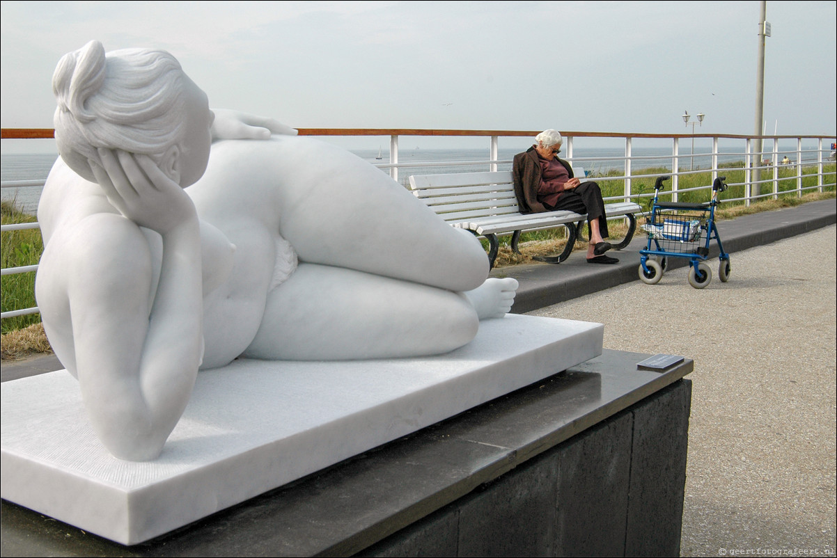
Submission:
<svg viewBox="0 0 837 558">
<path fill-rule="evenodd" d="M 583 178 L 584 170 L 573 167 Z M 450 223 L 519 212 L 511 171 L 454 172 L 409 177 L 410 191 Z"/>
</svg>

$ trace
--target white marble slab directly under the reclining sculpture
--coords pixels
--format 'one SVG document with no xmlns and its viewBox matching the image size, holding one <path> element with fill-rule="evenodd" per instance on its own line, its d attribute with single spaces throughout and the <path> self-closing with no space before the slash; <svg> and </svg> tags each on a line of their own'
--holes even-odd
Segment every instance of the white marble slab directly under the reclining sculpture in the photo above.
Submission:
<svg viewBox="0 0 837 558">
<path fill-rule="evenodd" d="M 603 325 L 485 320 L 420 359 L 235 361 L 203 371 L 157 460 L 110 456 L 66 371 L 2 385 L 2 495 L 133 545 L 602 353 Z"/>
</svg>

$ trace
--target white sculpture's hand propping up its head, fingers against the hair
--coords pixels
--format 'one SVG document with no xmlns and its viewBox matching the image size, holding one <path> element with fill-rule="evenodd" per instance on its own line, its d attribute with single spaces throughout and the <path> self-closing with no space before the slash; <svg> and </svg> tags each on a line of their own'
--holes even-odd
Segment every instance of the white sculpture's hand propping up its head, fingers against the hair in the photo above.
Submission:
<svg viewBox="0 0 837 558">
<path fill-rule="evenodd" d="M 99 157 L 101 166 L 90 161 L 96 182 L 126 218 L 160 234 L 197 222 L 192 200 L 148 156 L 100 149 Z"/>
</svg>

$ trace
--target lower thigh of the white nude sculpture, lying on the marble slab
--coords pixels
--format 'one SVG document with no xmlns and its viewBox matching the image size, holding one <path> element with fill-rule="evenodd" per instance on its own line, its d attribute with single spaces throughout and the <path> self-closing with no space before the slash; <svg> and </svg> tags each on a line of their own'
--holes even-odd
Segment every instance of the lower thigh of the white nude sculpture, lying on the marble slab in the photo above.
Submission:
<svg viewBox="0 0 837 558">
<path fill-rule="evenodd" d="M 300 264 L 268 295 L 259 332 L 244 354 L 282 360 L 427 356 L 465 345 L 478 327 L 460 294 Z"/>
</svg>

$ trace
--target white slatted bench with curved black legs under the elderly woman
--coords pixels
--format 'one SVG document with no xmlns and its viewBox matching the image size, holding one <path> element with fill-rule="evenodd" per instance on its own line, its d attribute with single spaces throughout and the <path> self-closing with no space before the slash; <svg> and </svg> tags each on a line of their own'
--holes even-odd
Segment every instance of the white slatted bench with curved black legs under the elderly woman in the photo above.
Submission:
<svg viewBox="0 0 837 558">
<path fill-rule="evenodd" d="M 582 169 L 573 168 L 573 174 L 583 177 Z M 413 194 L 426 203 L 439 217 L 456 228 L 465 228 L 477 236 L 488 239 L 488 259 L 491 267 L 500 249 L 498 237 L 511 234 L 511 249 L 520 253 L 517 242 L 521 233 L 549 228 L 567 228 L 567 247 L 557 256 L 537 257 L 542 262 L 560 264 L 573 251 L 576 239 L 586 215 L 570 211 L 521 213 L 511 171 L 456 172 L 451 174 L 413 175 L 409 177 Z M 617 250 L 630 243 L 636 230 L 634 213 L 642 209 L 633 202 L 605 204 L 605 215 L 622 216 L 629 221 L 628 233 L 619 243 L 611 243 Z"/>
</svg>

